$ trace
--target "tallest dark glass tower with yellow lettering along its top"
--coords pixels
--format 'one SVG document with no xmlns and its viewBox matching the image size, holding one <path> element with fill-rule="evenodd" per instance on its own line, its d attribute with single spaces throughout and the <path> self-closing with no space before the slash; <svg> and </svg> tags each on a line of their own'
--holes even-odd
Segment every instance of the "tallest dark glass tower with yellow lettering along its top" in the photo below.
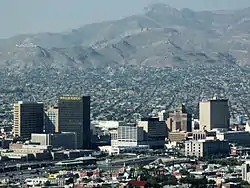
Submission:
<svg viewBox="0 0 250 188">
<path fill-rule="evenodd" d="M 59 98 L 59 132 L 75 132 L 77 148 L 90 148 L 90 97 Z"/>
</svg>

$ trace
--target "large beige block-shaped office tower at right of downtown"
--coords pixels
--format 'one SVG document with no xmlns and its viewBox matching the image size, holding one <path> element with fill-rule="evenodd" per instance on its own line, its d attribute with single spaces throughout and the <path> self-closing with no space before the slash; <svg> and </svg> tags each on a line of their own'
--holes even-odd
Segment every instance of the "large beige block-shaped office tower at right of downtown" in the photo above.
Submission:
<svg viewBox="0 0 250 188">
<path fill-rule="evenodd" d="M 200 102 L 200 129 L 228 129 L 229 128 L 228 100 L 212 99 Z"/>
</svg>

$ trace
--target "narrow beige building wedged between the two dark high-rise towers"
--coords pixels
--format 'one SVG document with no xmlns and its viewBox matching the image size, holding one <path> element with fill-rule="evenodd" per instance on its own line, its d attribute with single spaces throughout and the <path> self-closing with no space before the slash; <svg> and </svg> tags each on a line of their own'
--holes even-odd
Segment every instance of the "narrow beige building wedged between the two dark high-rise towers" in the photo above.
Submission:
<svg viewBox="0 0 250 188">
<path fill-rule="evenodd" d="M 44 130 L 45 133 L 55 133 L 59 130 L 58 122 L 58 107 L 50 107 L 45 111 L 44 116 Z"/>
</svg>

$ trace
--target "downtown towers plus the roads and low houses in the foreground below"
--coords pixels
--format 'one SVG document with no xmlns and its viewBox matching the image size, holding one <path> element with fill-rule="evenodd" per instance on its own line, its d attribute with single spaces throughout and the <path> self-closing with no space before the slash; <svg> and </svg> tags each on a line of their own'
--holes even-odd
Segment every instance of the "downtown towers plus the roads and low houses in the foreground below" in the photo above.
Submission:
<svg viewBox="0 0 250 188">
<path fill-rule="evenodd" d="M 229 104 L 116 121 L 91 118 L 89 96 L 18 101 L 0 114 L 1 187 L 250 187 L 250 122 Z"/>
</svg>

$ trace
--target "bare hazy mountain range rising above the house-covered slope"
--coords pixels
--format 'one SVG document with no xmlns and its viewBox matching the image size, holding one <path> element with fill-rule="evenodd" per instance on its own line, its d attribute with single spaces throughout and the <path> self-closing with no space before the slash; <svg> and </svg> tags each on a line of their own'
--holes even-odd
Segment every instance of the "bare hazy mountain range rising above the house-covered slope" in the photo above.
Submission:
<svg viewBox="0 0 250 188">
<path fill-rule="evenodd" d="M 250 65 L 250 8 L 175 9 L 152 4 L 143 14 L 64 33 L 0 40 L 0 69 L 179 67 L 200 63 Z"/>
</svg>

